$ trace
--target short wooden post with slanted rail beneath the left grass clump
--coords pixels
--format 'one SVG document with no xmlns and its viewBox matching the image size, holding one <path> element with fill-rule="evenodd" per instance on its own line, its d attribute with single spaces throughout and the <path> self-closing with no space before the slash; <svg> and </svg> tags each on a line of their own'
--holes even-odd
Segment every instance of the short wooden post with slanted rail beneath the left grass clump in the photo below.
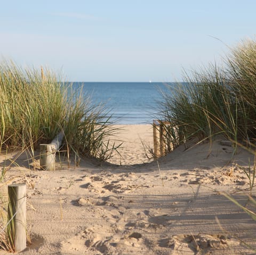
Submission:
<svg viewBox="0 0 256 255">
<path fill-rule="evenodd" d="M 40 169 L 55 170 L 55 154 L 59 150 L 64 134 L 61 132 L 50 144 L 40 144 Z"/>
</svg>

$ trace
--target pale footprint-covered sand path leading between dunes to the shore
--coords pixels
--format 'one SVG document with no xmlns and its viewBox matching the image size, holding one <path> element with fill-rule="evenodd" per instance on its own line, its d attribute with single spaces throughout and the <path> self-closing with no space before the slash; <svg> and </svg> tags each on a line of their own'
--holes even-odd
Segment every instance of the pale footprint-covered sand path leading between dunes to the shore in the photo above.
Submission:
<svg viewBox="0 0 256 255">
<path fill-rule="evenodd" d="M 31 244 L 22 254 L 253 254 L 243 242 L 255 247 L 255 221 L 222 195 L 253 210 L 243 170 L 252 155 L 238 149 L 232 157 L 217 139 L 180 146 L 157 164 L 145 155 L 151 126 L 121 127 L 121 156 L 107 163 L 40 171 L 38 158 L 33 170 L 22 154 L 10 167 L 5 182 L 27 184 Z"/>
</svg>

